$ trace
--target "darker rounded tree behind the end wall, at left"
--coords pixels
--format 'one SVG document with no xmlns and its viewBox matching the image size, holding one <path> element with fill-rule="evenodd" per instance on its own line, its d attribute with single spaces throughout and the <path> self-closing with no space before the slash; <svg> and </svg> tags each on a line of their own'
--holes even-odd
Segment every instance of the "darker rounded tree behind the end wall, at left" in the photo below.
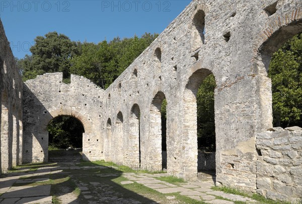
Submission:
<svg viewBox="0 0 302 204">
<path fill-rule="evenodd" d="M 62 72 L 63 78 L 68 78 L 70 59 L 79 54 L 78 44 L 57 32 L 49 32 L 45 37 L 37 36 L 30 51 L 32 55 L 26 55 L 20 62 L 24 81 L 54 72 Z"/>
</svg>

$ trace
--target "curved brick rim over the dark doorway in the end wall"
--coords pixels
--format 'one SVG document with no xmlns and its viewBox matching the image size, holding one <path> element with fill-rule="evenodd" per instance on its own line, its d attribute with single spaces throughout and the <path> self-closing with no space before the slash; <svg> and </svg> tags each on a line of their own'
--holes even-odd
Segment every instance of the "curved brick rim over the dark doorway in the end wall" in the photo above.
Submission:
<svg viewBox="0 0 302 204">
<path fill-rule="evenodd" d="M 68 115 L 68 116 L 77 118 L 83 124 L 85 133 L 86 134 L 92 133 L 91 124 L 88 121 L 88 119 L 86 118 L 86 116 L 78 111 L 68 109 L 68 108 L 60 108 L 60 109 L 51 110 L 48 114 L 46 114 L 41 121 L 42 130 L 45 131 L 50 120 L 52 120 L 53 118 L 60 116 L 60 115 Z"/>
</svg>

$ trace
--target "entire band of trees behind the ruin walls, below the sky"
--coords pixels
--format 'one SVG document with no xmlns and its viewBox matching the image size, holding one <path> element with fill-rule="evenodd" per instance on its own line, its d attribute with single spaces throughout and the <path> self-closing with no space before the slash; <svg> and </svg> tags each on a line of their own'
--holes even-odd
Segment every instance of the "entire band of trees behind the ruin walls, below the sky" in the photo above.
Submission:
<svg viewBox="0 0 302 204">
<path fill-rule="evenodd" d="M 95 44 L 74 42 L 63 34 L 50 32 L 36 37 L 30 48 L 32 55 L 17 59 L 17 65 L 24 81 L 44 73 L 62 72 L 64 82 L 75 74 L 105 89 L 157 36 L 145 33 L 140 38 L 117 37 L 109 43 L 104 40 Z"/>
</svg>

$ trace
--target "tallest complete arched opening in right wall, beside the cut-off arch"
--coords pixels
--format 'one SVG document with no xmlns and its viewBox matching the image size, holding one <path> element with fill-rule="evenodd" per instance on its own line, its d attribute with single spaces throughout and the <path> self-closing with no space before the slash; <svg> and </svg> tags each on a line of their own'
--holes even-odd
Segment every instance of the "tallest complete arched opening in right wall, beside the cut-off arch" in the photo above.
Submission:
<svg viewBox="0 0 302 204">
<path fill-rule="evenodd" d="M 185 89 L 185 131 L 190 141 L 197 142 L 197 146 L 189 145 L 192 146 L 191 154 L 197 155 L 196 172 L 199 178 L 215 176 L 215 87 L 211 71 L 199 69 L 191 75 Z"/>
</svg>

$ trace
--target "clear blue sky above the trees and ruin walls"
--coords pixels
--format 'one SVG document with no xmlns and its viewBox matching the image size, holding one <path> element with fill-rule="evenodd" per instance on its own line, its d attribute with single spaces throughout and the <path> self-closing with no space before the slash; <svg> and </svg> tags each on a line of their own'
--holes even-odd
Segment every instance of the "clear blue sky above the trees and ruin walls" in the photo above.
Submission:
<svg viewBox="0 0 302 204">
<path fill-rule="evenodd" d="M 0 1 L 0 18 L 13 53 L 31 54 L 36 36 L 56 31 L 74 41 L 98 43 L 161 33 L 190 0 L 175 1 Z"/>
</svg>

